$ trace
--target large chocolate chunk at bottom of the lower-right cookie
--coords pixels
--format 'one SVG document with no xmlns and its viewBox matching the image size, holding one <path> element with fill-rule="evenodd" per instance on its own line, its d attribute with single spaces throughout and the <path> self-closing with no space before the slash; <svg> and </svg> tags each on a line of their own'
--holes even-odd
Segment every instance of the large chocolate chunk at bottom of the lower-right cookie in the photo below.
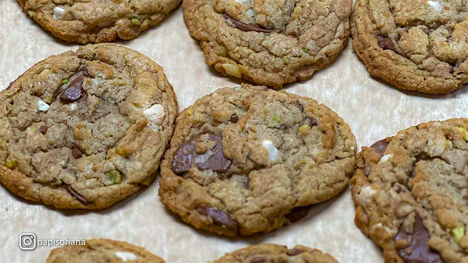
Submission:
<svg viewBox="0 0 468 263">
<path fill-rule="evenodd" d="M 407 233 L 402 224 L 396 234 L 396 241 L 411 239 L 409 246 L 399 249 L 398 254 L 405 263 L 443 263 L 437 251 L 430 248 L 429 238 L 428 229 L 423 225 L 422 218 L 416 213 L 413 233 Z"/>
</svg>

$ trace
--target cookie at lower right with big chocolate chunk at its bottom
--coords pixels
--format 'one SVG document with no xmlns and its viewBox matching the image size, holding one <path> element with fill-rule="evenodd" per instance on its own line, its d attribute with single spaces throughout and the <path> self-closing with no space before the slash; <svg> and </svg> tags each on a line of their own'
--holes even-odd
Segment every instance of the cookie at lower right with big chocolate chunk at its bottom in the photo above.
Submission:
<svg viewBox="0 0 468 263">
<path fill-rule="evenodd" d="M 354 222 L 385 263 L 468 263 L 467 129 L 421 123 L 358 154 Z"/>
</svg>

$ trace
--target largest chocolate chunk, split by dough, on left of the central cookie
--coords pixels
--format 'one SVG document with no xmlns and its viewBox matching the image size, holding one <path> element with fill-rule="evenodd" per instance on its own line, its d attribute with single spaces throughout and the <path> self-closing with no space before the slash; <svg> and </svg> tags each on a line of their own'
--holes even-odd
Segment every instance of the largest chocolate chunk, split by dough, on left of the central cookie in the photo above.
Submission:
<svg viewBox="0 0 468 263">
<path fill-rule="evenodd" d="M 209 140 L 214 141 L 216 146 L 213 151 L 213 155 L 205 159 L 203 163 L 196 163 L 195 166 L 200 170 L 213 170 L 217 172 L 227 172 L 231 167 L 231 160 L 226 158 L 222 149 L 222 137 L 214 134 L 208 134 Z M 184 142 L 176 151 L 176 155 L 172 158 L 172 170 L 177 173 L 187 172 L 192 166 L 192 162 L 195 161 L 197 156 L 195 151 L 195 141 L 201 136 L 197 135 L 194 138 Z"/>
</svg>

